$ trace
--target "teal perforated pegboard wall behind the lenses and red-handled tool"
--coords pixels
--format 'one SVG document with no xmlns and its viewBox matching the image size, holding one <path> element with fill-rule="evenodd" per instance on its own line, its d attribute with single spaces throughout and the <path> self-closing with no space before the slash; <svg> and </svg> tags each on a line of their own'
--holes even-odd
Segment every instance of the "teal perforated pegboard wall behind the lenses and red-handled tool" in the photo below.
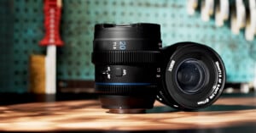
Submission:
<svg viewBox="0 0 256 133">
<path fill-rule="evenodd" d="M 45 53 L 45 47 L 38 46 L 44 36 L 43 1 L 11 2 L 13 6 L 9 8 L 14 13 L 14 38 L 9 55 L 11 81 L 0 91 L 23 92 L 28 88 L 29 55 Z M 217 28 L 213 19 L 204 23 L 199 13 L 189 16 L 186 1 L 63 0 L 61 37 L 65 45 L 58 48 L 58 79 L 94 79 L 90 53 L 95 24 L 137 22 L 160 24 L 164 46 L 192 41 L 214 48 L 224 59 L 229 82 L 248 82 L 256 75 L 253 73 L 256 69 L 256 40 L 247 42 L 242 33 L 232 35 L 229 26 Z"/>
</svg>

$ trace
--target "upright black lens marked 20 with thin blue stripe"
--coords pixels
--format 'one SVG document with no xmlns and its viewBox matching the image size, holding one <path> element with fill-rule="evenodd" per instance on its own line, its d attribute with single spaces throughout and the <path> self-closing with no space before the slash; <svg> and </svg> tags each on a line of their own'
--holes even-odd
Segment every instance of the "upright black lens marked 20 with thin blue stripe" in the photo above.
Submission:
<svg viewBox="0 0 256 133">
<path fill-rule="evenodd" d="M 102 108 L 109 113 L 143 113 L 157 93 L 160 25 L 96 25 L 92 62 Z"/>
</svg>

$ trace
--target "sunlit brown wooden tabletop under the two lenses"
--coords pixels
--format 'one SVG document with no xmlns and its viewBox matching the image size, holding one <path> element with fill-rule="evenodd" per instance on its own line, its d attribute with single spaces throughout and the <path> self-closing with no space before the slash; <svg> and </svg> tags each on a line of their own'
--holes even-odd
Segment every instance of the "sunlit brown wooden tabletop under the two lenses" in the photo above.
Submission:
<svg viewBox="0 0 256 133">
<path fill-rule="evenodd" d="M 108 114 L 97 100 L 20 103 L 0 106 L 2 131 L 189 130 L 256 126 L 256 97 L 221 97 L 197 112 L 158 102 L 146 114 Z"/>
</svg>

